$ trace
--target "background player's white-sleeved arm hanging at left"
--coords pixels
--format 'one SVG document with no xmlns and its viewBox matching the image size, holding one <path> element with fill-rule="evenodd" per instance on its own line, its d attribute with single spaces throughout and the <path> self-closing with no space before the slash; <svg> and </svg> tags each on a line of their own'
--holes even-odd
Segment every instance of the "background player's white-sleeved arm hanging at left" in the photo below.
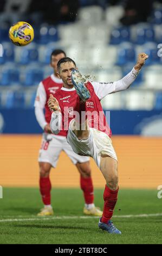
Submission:
<svg viewBox="0 0 162 256">
<path fill-rule="evenodd" d="M 37 92 L 36 92 L 36 98 L 34 102 L 35 107 L 35 116 L 38 124 L 41 126 L 41 128 L 48 133 L 51 133 L 50 126 L 47 123 L 45 117 L 44 117 L 44 106 L 46 105 L 46 91 L 44 90 L 43 84 L 40 83 Z"/>
</svg>

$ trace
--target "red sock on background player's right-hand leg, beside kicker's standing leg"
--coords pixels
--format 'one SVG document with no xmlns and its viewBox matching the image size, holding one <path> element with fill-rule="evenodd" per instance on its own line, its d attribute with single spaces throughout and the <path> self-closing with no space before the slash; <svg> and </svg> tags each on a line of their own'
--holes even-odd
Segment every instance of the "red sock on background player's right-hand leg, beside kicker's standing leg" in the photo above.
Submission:
<svg viewBox="0 0 162 256">
<path fill-rule="evenodd" d="M 83 178 L 80 176 L 80 186 L 84 194 L 85 203 L 93 204 L 94 201 L 94 192 L 93 192 L 93 184 L 92 178 Z"/>
</svg>

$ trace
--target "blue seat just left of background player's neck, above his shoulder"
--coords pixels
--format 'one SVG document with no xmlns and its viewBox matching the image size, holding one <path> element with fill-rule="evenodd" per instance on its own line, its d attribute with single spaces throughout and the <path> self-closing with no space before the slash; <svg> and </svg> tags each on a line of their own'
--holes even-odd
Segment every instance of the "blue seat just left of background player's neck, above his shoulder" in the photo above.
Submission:
<svg viewBox="0 0 162 256">
<path fill-rule="evenodd" d="M 41 69 L 28 69 L 25 72 L 24 86 L 36 86 L 43 80 L 43 71 Z"/>
</svg>

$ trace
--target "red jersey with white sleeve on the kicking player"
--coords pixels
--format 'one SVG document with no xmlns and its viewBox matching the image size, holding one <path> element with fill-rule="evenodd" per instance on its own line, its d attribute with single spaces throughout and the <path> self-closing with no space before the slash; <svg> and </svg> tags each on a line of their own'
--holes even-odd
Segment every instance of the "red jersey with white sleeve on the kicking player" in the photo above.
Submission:
<svg viewBox="0 0 162 256">
<path fill-rule="evenodd" d="M 90 98 L 86 101 L 86 114 L 89 127 L 105 132 L 111 137 L 112 132 L 106 122 L 100 100 L 108 93 L 114 92 L 114 83 L 87 82 L 86 86 L 90 92 Z M 79 96 L 75 88 L 67 89 L 62 87 L 54 97 L 59 101 L 62 113 L 61 130 L 67 132 L 70 121 L 75 117 L 75 111 L 79 112 Z"/>
</svg>

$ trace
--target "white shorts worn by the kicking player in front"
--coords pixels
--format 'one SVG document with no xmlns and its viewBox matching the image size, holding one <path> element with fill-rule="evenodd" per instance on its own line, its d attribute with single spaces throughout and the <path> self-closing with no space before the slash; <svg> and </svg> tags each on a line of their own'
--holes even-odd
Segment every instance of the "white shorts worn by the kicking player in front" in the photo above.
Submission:
<svg viewBox="0 0 162 256">
<path fill-rule="evenodd" d="M 93 157 L 99 168 L 101 155 L 103 154 L 111 156 L 118 161 L 111 138 L 104 132 L 94 128 L 89 129 L 89 137 L 87 139 L 78 139 L 69 125 L 67 142 L 72 146 L 74 152 L 82 156 Z"/>
</svg>

